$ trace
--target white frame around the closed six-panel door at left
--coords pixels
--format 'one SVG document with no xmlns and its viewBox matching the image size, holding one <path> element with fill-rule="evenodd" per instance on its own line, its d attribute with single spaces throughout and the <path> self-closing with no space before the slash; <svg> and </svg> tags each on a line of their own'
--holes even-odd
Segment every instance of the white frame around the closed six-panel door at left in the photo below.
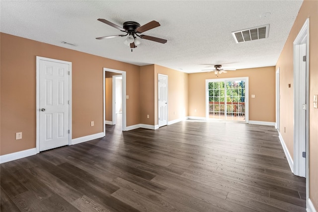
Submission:
<svg viewBox="0 0 318 212">
<path fill-rule="evenodd" d="M 50 61 L 69 65 L 69 145 L 72 144 L 72 62 L 36 56 L 36 152 L 40 152 L 40 61 Z"/>
</svg>

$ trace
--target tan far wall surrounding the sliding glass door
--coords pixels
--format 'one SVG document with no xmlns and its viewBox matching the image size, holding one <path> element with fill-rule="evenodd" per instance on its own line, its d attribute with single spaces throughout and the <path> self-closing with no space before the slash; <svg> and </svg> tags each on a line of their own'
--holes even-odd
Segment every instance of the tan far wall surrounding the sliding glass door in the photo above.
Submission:
<svg viewBox="0 0 318 212">
<path fill-rule="evenodd" d="M 206 116 L 206 79 L 246 76 L 249 84 L 249 120 L 275 122 L 275 67 L 228 71 L 218 77 L 214 72 L 189 74 L 189 116 Z M 250 98 L 251 94 L 255 98 Z"/>
</svg>

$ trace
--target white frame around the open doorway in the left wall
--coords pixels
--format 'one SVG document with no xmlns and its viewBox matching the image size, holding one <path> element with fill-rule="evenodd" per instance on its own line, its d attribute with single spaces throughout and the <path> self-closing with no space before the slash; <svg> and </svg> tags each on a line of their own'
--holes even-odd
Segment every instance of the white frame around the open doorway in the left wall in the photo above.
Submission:
<svg viewBox="0 0 318 212">
<path fill-rule="evenodd" d="M 103 130 L 104 130 L 104 136 L 106 135 L 106 128 L 105 128 L 105 76 L 106 76 L 106 71 L 109 72 L 115 72 L 115 73 L 121 73 L 122 77 L 123 77 L 123 83 L 122 83 L 122 106 L 123 106 L 123 118 L 122 118 L 122 131 L 126 131 L 126 71 L 120 71 L 120 70 L 115 70 L 115 69 L 108 69 L 108 68 L 104 68 L 103 69 L 103 120 L 104 120 L 104 126 L 103 126 Z M 113 110 L 113 108 L 112 108 Z M 112 112 L 113 114 L 113 112 Z M 114 118 L 113 118 L 114 121 Z"/>
</svg>

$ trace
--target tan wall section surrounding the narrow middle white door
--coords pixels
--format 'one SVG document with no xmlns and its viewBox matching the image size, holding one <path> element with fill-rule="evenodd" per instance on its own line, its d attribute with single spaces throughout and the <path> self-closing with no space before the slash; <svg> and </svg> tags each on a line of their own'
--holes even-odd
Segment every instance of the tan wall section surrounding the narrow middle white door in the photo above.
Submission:
<svg viewBox="0 0 318 212">
<path fill-rule="evenodd" d="M 155 125 L 158 125 L 158 73 L 168 76 L 168 121 L 188 116 L 188 74 L 155 65 Z"/>
</svg>

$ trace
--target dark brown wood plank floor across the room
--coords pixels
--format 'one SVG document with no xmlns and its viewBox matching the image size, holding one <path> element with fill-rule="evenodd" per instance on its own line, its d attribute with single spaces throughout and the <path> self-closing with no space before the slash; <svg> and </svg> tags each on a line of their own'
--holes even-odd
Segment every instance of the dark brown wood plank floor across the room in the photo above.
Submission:
<svg viewBox="0 0 318 212">
<path fill-rule="evenodd" d="M 118 122 L 117 122 L 118 123 Z M 1 164 L 1 212 L 305 212 L 274 127 L 184 121 Z"/>
</svg>

